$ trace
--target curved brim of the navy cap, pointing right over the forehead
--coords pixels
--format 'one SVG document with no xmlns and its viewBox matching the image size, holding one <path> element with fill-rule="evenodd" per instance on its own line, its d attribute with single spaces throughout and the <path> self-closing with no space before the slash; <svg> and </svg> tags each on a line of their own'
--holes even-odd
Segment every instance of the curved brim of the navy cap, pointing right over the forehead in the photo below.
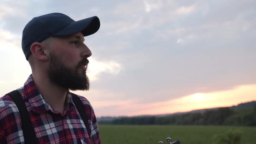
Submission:
<svg viewBox="0 0 256 144">
<path fill-rule="evenodd" d="M 69 24 L 65 28 L 61 29 L 59 32 L 55 33 L 53 36 L 64 36 L 78 32 L 82 32 L 84 36 L 89 36 L 93 33 L 96 33 L 99 27 L 100 21 L 98 17 L 92 16 Z"/>
</svg>

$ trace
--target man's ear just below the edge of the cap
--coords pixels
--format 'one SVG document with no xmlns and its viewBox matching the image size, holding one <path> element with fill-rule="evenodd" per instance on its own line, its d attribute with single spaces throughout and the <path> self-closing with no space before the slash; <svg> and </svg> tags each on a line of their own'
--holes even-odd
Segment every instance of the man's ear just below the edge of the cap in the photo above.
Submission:
<svg viewBox="0 0 256 144">
<path fill-rule="evenodd" d="M 36 59 L 48 60 L 48 55 L 42 43 L 35 42 L 30 46 L 30 51 Z"/>
</svg>

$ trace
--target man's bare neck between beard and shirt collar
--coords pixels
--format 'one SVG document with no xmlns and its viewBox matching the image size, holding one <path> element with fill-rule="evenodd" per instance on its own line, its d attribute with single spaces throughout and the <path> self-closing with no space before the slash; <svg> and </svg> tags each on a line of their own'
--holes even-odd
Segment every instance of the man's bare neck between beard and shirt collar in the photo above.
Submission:
<svg viewBox="0 0 256 144">
<path fill-rule="evenodd" d="M 50 82 L 46 72 L 33 73 L 33 80 L 39 93 L 48 104 L 62 115 L 65 108 L 67 89 Z"/>
</svg>

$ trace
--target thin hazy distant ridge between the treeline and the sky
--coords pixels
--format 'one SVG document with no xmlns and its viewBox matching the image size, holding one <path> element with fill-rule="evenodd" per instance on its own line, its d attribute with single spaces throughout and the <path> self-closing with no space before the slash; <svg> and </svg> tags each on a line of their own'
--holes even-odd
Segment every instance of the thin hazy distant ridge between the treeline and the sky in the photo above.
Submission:
<svg viewBox="0 0 256 144">
<path fill-rule="evenodd" d="M 253 108 L 253 106 L 256 105 L 256 101 L 250 101 L 250 102 L 245 102 L 241 103 L 239 105 L 234 105 L 231 107 L 225 107 L 225 108 L 230 108 L 232 110 L 243 110 L 243 109 L 248 109 L 248 108 Z M 141 117 L 165 117 L 165 116 L 171 116 L 171 115 L 183 115 L 183 114 L 191 114 L 191 113 L 203 113 L 208 110 L 217 110 L 219 108 L 223 107 L 218 107 L 218 108 L 206 108 L 206 109 L 198 109 L 198 110 L 193 110 L 193 111 L 187 111 L 187 112 L 177 112 L 173 114 L 163 114 L 163 115 L 138 115 L 138 116 L 132 116 L 131 118 L 141 118 Z M 97 121 L 113 121 L 115 119 L 120 119 L 120 118 L 127 118 L 125 116 L 120 116 L 120 117 L 99 117 L 97 118 Z"/>
</svg>

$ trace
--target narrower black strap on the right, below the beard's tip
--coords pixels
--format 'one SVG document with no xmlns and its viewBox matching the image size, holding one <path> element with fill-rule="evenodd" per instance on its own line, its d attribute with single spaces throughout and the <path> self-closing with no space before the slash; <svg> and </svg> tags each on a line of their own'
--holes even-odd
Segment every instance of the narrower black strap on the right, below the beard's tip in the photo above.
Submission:
<svg viewBox="0 0 256 144">
<path fill-rule="evenodd" d="M 80 100 L 80 98 L 77 95 L 73 94 L 72 92 L 71 92 L 71 95 L 72 95 L 72 100 L 75 104 L 75 107 L 77 108 L 80 116 L 82 117 L 82 120 L 84 121 L 86 130 L 89 134 L 89 138 L 91 139 L 91 131 L 90 131 L 90 128 L 89 128 L 88 117 L 87 117 L 87 114 L 86 114 L 86 111 L 85 111 L 85 107 L 84 107 L 82 101 Z"/>
</svg>

